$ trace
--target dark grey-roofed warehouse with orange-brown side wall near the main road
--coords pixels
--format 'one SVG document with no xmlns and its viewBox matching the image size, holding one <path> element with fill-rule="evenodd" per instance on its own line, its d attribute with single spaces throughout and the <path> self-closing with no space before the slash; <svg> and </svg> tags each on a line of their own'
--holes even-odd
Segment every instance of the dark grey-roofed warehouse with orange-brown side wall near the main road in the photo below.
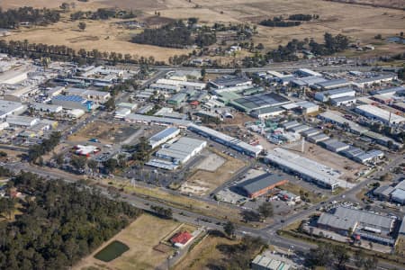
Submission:
<svg viewBox="0 0 405 270">
<path fill-rule="evenodd" d="M 244 196 L 251 199 L 264 195 L 277 186 L 286 184 L 284 175 L 263 174 L 239 183 L 237 188 Z"/>
</svg>

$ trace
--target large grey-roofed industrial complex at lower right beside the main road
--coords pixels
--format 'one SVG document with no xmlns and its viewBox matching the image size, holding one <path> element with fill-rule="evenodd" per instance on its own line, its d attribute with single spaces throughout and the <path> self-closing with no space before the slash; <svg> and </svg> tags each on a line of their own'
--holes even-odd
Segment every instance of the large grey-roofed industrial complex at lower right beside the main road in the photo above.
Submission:
<svg viewBox="0 0 405 270">
<path fill-rule="evenodd" d="M 328 229 L 338 234 L 365 238 L 383 245 L 392 246 L 395 241 L 390 236 L 394 227 L 394 219 L 375 214 L 339 206 L 332 212 L 323 212 L 317 222 L 320 229 Z"/>
</svg>

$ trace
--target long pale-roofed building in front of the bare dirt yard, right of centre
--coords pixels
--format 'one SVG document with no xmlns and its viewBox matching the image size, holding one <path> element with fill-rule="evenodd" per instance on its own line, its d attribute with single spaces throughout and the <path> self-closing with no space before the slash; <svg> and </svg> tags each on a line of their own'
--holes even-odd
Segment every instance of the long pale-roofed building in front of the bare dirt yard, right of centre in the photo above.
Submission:
<svg viewBox="0 0 405 270">
<path fill-rule="evenodd" d="M 336 170 L 284 148 L 269 151 L 265 161 L 324 188 L 334 190 L 339 185 L 339 174 Z"/>
</svg>

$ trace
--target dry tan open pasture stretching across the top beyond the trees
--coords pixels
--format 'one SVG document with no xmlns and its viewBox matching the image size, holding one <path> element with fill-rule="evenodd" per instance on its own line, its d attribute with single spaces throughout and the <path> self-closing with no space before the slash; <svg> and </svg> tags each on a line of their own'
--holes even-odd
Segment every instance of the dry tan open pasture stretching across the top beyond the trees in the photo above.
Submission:
<svg viewBox="0 0 405 270">
<path fill-rule="evenodd" d="M 362 1 L 377 2 L 376 0 Z M 392 1 L 385 0 L 384 3 Z M 49 3 L 49 1 L 45 0 L 5 0 L 1 2 L 0 6 L 5 8 L 22 5 L 58 7 L 62 2 L 64 1 L 58 0 Z M 380 1 L 378 2 L 380 3 Z M 400 2 L 403 3 L 403 1 Z M 195 8 L 196 5 L 199 8 Z M 195 0 L 192 3 L 182 0 L 94 0 L 89 3 L 77 2 L 76 9 L 72 11 L 115 6 L 142 11 L 143 14 L 136 20 L 146 23 L 150 22 L 150 18 L 155 16 L 155 11 L 161 14 L 160 20 L 164 19 L 164 17 L 172 19 L 198 17 L 202 23 L 257 23 L 265 18 L 278 15 L 320 14 L 320 20 L 302 23 L 298 27 L 271 28 L 257 26 L 258 35 L 254 37 L 254 42 L 261 42 L 267 48 L 275 48 L 292 39 L 313 38 L 322 40 L 326 31 L 333 34 L 343 33 L 350 36 L 352 40 L 360 40 L 362 43 L 373 43 L 376 34 L 382 34 L 384 38 L 396 35 L 403 31 L 405 23 L 404 14 L 401 10 L 322 0 L 259 0 L 257 2 L 246 0 Z M 123 54 L 129 53 L 133 56 L 153 56 L 158 60 L 166 60 L 175 54 L 179 55 L 190 51 L 189 49 L 167 49 L 130 43 L 130 37 L 139 30 L 133 31 L 119 28 L 116 24 L 117 20 L 85 22 L 87 24 L 85 31 L 78 31 L 78 22 L 70 22 L 66 19 L 49 27 L 23 29 L 20 32 L 14 32 L 6 39 L 67 45 L 74 49 L 116 51 Z M 386 49 L 388 47 L 391 49 Z M 396 47 L 396 49 L 401 49 L 401 47 Z M 383 44 L 378 46 L 374 53 L 392 53 L 392 46 Z"/>
</svg>

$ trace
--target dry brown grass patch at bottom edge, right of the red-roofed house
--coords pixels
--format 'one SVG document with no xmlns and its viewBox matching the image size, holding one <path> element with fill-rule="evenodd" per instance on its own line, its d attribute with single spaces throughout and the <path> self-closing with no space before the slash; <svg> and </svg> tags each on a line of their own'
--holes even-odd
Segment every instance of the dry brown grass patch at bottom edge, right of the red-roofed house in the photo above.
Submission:
<svg viewBox="0 0 405 270">
<path fill-rule="evenodd" d="M 228 238 L 217 238 L 213 236 L 206 237 L 193 250 L 187 254 L 180 263 L 175 266 L 175 270 L 183 269 L 208 269 L 208 265 L 214 261 L 226 259 L 216 247 L 217 245 L 237 244 Z"/>
</svg>

